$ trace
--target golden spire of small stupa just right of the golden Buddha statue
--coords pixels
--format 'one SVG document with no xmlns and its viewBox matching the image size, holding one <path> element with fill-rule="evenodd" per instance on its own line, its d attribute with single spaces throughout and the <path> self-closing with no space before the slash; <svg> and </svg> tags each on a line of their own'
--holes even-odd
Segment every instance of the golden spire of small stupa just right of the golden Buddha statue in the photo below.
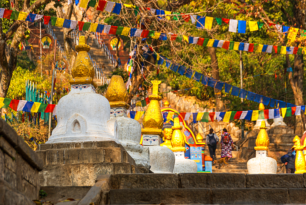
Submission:
<svg viewBox="0 0 306 205">
<path fill-rule="evenodd" d="M 180 121 L 178 118 L 174 118 L 174 124 L 172 126 L 172 137 L 171 137 L 171 145 L 173 146 L 171 150 L 173 152 L 186 152 L 185 148 L 185 137 L 182 133 L 183 126 L 180 125 Z"/>
</svg>

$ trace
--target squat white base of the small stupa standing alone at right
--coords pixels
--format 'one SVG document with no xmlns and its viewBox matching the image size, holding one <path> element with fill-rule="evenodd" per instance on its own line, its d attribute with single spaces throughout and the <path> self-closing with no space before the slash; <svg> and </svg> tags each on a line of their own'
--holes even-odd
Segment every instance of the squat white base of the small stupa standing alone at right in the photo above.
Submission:
<svg viewBox="0 0 306 205">
<path fill-rule="evenodd" d="M 254 157 L 247 162 L 249 174 L 276 174 L 277 162 L 271 157 Z"/>
</svg>

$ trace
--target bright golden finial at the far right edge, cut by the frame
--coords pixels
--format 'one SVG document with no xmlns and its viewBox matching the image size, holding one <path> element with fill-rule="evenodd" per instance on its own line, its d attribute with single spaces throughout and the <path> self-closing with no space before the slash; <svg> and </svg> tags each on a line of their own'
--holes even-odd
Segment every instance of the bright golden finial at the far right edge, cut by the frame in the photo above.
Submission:
<svg viewBox="0 0 306 205">
<path fill-rule="evenodd" d="M 305 162 L 305 156 L 303 154 L 303 149 L 304 147 L 306 146 L 305 145 L 305 142 L 304 141 L 304 145 L 301 145 L 301 141 L 300 141 L 300 137 L 299 136 L 295 136 L 293 138 L 293 142 L 294 142 L 294 145 L 296 144 L 296 147 L 295 147 L 295 151 L 296 151 L 296 154 L 295 154 L 295 174 L 303 174 L 306 172 L 306 162 Z"/>
</svg>

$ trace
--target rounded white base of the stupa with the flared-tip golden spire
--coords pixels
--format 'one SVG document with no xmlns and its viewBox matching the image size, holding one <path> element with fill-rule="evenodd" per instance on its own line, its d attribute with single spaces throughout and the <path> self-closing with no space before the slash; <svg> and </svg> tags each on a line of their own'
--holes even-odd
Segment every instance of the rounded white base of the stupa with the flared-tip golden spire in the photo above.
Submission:
<svg viewBox="0 0 306 205">
<path fill-rule="evenodd" d="M 173 173 L 175 157 L 171 149 L 155 146 L 144 146 L 150 149 L 150 170 L 154 173 Z"/>
</svg>

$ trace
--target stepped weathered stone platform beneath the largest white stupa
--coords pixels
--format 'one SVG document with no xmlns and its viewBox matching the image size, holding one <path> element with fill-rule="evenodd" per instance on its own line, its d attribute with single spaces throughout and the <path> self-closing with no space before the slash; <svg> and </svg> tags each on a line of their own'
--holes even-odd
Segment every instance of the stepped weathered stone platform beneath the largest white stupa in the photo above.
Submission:
<svg viewBox="0 0 306 205">
<path fill-rule="evenodd" d="M 44 164 L 41 186 L 92 186 L 101 174 L 149 173 L 114 141 L 41 144 L 36 153 Z"/>
</svg>

